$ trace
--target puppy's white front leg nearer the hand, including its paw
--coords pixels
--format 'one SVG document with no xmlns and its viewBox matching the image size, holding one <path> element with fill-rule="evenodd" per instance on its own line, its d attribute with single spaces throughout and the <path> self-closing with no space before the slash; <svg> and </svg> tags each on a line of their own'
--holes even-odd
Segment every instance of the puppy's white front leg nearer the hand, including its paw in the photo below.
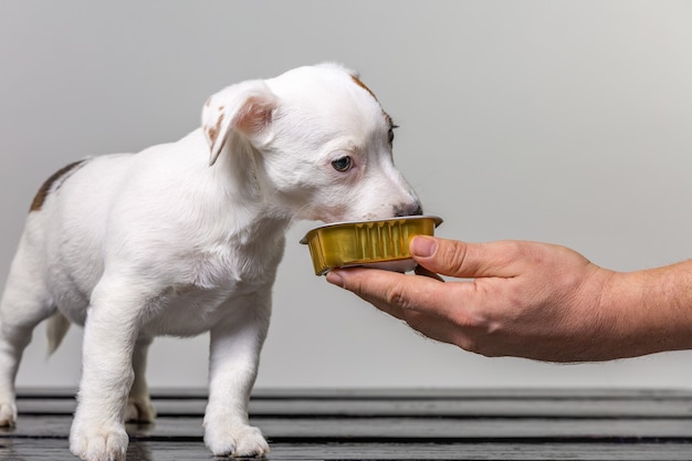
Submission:
<svg viewBox="0 0 692 461">
<path fill-rule="evenodd" d="M 248 419 L 250 392 L 269 327 L 270 306 L 248 308 L 233 325 L 211 331 L 205 443 L 217 455 L 261 457 L 269 444 Z"/>
</svg>

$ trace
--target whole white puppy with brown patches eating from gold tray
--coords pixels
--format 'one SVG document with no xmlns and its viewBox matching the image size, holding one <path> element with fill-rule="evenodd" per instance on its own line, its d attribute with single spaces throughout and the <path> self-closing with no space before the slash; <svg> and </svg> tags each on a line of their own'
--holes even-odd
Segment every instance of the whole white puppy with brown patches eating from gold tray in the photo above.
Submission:
<svg viewBox="0 0 692 461">
<path fill-rule="evenodd" d="M 216 455 L 265 453 L 248 400 L 285 230 L 420 214 L 392 164 L 392 128 L 357 76 L 322 64 L 222 90 L 177 143 L 56 172 L 31 206 L 0 304 L 0 426 L 15 422 L 32 329 L 50 317 L 55 348 L 70 323 L 85 325 L 70 447 L 124 460 L 124 421 L 155 417 L 151 339 L 210 332 L 205 441 Z"/>
</svg>

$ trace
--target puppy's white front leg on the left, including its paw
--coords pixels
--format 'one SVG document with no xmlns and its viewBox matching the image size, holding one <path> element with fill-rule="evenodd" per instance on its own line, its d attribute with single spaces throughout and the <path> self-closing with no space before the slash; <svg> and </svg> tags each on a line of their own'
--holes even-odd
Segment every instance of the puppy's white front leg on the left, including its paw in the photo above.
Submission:
<svg viewBox="0 0 692 461">
<path fill-rule="evenodd" d="M 84 327 L 83 369 L 70 450 L 86 461 L 124 461 L 124 413 L 144 296 L 132 284 L 104 281 L 92 293 Z"/>
</svg>

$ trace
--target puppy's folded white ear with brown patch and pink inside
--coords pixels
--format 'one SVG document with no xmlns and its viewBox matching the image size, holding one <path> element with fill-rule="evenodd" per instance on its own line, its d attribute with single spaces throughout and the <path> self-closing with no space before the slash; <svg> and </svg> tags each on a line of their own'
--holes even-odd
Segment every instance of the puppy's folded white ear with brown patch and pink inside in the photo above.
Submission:
<svg viewBox="0 0 692 461">
<path fill-rule="evenodd" d="M 209 166 L 213 165 L 231 133 L 250 142 L 266 134 L 276 107 L 276 96 L 263 81 L 249 81 L 221 90 L 202 109 L 202 130 L 209 143 Z"/>
</svg>

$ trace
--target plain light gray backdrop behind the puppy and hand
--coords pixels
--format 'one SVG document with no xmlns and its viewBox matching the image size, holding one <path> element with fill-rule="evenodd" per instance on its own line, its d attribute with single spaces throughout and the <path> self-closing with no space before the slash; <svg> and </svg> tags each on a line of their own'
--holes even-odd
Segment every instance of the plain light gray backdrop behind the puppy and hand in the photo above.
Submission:
<svg viewBox="0 0 692 461">
<path fill-rule="evenodd" d="M 39 185 L 94 154 L 195 129 L 207 96 L 337 61 L 401 127 L 396 161 L 439 234 L 575 248 L 630 271 L 692 255 L 692 3 L 0 2 L 0 280 Z M 312 274 L 296 223 L 262 387 L 692 386 L 691 353 L 490 359 L 420 337 Z M 81 331 L 20 386 L 78 383 Z M 153 386 L 203 386 L 207 338 L 161 338 Z"/>
</svg>

